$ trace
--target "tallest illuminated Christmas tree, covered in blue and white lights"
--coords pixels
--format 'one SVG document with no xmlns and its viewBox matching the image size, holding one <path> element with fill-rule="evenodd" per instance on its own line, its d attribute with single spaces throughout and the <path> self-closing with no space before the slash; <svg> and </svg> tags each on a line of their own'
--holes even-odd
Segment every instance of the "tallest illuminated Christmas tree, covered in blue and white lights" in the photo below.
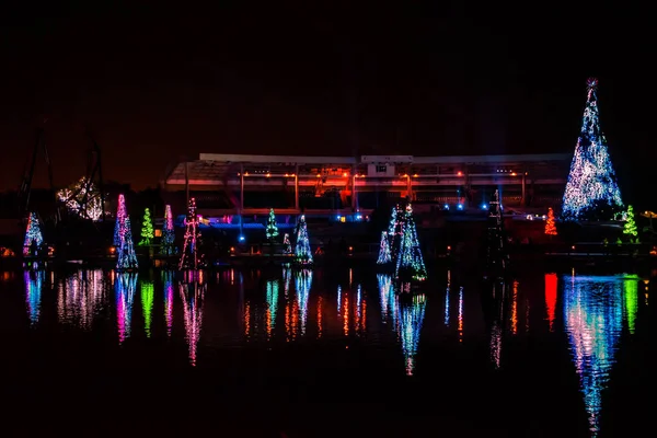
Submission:
<svg viewBox="0 0 657 438">
<path fill-rule="evenodd" d="M 621 191 L 611 165 L 607 139 L 600 129 L 597 79 L 589 79 L 581 132 L 570 163 L 570 174 L 564 193 L 562 216 L 580 220 L 586 215 L 601 212 L 600 219 L 612 219 L 623 207 Z"/>
</svg>

